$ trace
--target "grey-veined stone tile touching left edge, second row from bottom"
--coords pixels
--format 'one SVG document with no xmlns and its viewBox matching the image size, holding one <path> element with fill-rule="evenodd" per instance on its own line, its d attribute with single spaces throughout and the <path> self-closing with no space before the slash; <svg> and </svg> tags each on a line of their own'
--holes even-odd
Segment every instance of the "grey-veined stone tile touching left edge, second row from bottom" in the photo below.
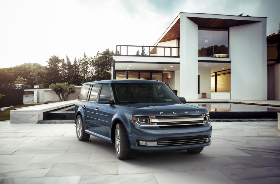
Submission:
<svg viewBox="0 0 280 184">
<path fill-rule="evenodd" d="M 0 178 L 44 177 L 53 166 L 54 163 L 1 165 Z"/>
</svg>

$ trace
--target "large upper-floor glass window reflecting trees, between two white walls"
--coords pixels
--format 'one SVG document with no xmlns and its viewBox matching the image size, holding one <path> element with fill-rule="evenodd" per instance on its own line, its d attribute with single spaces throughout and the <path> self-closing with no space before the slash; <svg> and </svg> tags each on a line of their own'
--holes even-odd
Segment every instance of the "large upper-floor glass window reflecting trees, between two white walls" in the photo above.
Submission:
<svg viewBox="0 0 280 184">
<path fill-rule="evenodd" d="M 228 30 L 198 30 L 198 56 L 228 58 Z"/>
</svg>

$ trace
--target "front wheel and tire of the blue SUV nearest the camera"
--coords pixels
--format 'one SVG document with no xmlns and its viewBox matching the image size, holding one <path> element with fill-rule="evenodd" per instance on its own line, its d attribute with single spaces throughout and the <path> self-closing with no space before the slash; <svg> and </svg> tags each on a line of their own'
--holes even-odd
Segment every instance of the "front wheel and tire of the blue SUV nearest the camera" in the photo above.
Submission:
<svg viewBox="0 0 280 184">
<path fill-rule="evenodd" d="M 115 149 L 119 160 L 127 160 L 132 156 L 127 132 L 122 123 L 118 123 L 115 129 Z"/>
</svg>

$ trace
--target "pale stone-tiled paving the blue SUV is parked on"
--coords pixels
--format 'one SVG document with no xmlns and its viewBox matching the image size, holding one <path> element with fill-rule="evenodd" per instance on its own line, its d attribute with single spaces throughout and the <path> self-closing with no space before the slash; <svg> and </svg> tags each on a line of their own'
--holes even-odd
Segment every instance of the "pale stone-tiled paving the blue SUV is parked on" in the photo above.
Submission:
<svg viewBox="0 0 280 184">
<path fill-rule="evenodd" d="M 0 122 L 0 183 L 279 184 L 277 122 L 212 123 L 212 145 L 186 151 L 134 152 L 118 160 L 114 144 L 78 141 L 74 124 Z"/>
</svg>

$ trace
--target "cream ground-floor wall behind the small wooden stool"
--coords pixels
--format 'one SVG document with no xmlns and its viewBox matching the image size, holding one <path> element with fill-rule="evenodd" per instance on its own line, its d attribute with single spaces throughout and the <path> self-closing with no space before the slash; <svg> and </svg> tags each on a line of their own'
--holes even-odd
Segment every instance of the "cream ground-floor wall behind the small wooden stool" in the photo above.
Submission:
<svg viewBox="0 0 280 184">
<path fill-rule="evenodd" d="M 206 98 L 211 98 L 211 85 L 210 85 L 210 78 L 211 78 L 211 71 L 208 69 L 199 69 L 199 94 L 197 95 L 198 98 L 201 98 L 201 93 L 206 93 Z"/>
</svg>

